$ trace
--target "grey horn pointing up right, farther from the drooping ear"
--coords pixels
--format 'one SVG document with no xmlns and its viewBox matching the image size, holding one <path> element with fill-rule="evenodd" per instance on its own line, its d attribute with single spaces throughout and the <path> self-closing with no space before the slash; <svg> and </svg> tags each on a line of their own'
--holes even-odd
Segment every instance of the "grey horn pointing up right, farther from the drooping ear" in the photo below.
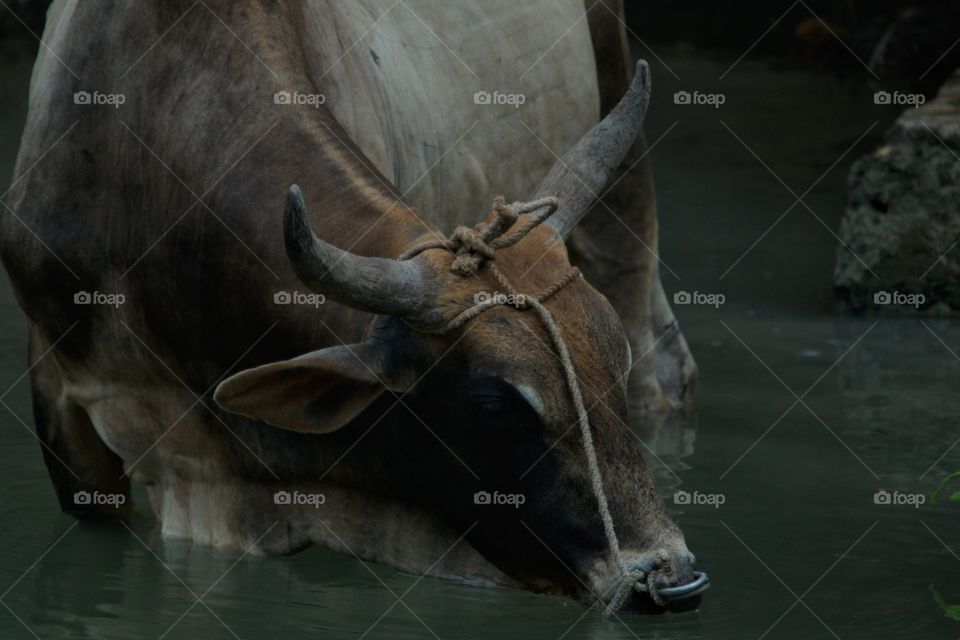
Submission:
<svg viewBox="0 0 960 640">
<path fill-rule="evenodd" d="M 630 88 L 616 107 L 550 170 L 534 198 L 557 196 L 560 209 L 547 221 L 566 239 L 577 226 L 640 133 L 650 103 L 650 67 L 637 63 Z"/>
</svg>

